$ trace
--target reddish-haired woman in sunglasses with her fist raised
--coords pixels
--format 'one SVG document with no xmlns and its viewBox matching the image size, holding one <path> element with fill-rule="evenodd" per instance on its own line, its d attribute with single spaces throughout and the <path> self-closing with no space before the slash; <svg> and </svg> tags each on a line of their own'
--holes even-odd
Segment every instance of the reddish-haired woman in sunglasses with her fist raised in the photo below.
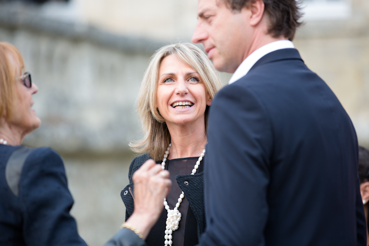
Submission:
<svg viewBox="0 0 369 246">
<path fill-rule="evenodd" d="M 69 214 L 62 158 L 48 148 L 21 146 L 40 126 L 31 108 L 38 91 L 13 45 L 0 42 L 0 245 L 86 246 Z M 171 181 L 169 172 L 148 161 L 133 177 L 136 208 L 106 246 L 143 246 L 162 210 Z"/>
</svg>

